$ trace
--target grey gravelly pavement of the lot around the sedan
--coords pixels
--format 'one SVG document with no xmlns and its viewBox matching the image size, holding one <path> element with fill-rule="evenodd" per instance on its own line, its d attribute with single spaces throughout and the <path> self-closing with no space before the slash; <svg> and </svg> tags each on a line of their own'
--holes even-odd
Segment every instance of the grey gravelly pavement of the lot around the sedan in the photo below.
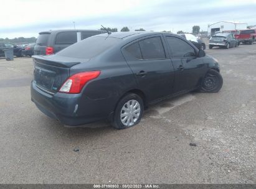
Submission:
<svg viewBox="0 0 256 189">
<path fill-rule="evenodd" d="M 31 58 L 0 60 L 0 183 L 256 183 L 256 44 L 206 53 L 219 93 L 149 108 L 141 123 L 67 128 L 31 102 Z"/>
</svg>

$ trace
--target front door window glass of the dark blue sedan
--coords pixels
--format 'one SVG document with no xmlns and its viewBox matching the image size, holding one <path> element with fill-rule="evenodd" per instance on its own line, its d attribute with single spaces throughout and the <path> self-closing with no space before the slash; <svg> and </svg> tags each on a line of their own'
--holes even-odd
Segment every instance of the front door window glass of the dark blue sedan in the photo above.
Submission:
<svg viewBox="0 0 256 189">
<path fill-rule="evenodd" d="M 194 48 L 191 45 L 176 37 L 166 37 L 174 58 L 195 57 Z"/>
</svg>

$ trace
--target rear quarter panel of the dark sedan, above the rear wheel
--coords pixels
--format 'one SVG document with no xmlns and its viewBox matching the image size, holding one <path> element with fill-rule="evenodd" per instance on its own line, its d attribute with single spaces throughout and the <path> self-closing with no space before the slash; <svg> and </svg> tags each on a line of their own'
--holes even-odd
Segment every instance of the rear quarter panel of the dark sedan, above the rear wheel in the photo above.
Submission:
<svg viewBox="0 0 256 189">
<path fill-rule="evenodd" d="M 121 55 L 120 48 L 108 50 L 89 62 L 75 65 L 70 68 L 70 75 L 92 70 L 100 70 L 101 73 L 98 78 L 89 81 L 84 86 L 80 101 L 82 107 L 78 109 L 78 114 L 88 109 L 88 99 L 93 102 L 90 106 L 90 113 L 100 114 L 99 116 L 110 114 L 114 111 L 121 96 L 137 86 L 133 73 Z"/>
</svg>

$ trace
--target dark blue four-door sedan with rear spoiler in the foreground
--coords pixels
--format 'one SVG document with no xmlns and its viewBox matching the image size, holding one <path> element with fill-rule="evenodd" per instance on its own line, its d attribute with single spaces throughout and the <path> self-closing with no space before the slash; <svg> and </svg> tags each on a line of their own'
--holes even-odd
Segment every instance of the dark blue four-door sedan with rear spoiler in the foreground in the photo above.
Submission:
<svg viewBox="0 0 256 189">
<path fill-rule="evenodd" d="M 33 61 L 32 101 L 69 126 L 109 119 L 125 129 L 138 124 L 150 104 L 222 87 L 216 59 L 166 32 L 95 35 Z"/>
</svg>

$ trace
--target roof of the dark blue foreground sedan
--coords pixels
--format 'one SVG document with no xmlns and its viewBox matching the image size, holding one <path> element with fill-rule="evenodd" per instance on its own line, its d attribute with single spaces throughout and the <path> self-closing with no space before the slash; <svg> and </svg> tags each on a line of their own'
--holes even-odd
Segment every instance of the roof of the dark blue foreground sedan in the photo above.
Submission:
<svg viewBox="0 0 256 189">
<path fill-rule="evenodd" d="M 111 34 L 99 34 L 94 35 L 92 37 L 113 37 L 118 39 L 130 39 L 131 37 L 144 37 L 148 35 L 154 35 L 154 34 L 171 34 L 167 32 L 146 32 L 146 31 L 140 31 L 140 32 L 112 32 Z"/>
</svg>

